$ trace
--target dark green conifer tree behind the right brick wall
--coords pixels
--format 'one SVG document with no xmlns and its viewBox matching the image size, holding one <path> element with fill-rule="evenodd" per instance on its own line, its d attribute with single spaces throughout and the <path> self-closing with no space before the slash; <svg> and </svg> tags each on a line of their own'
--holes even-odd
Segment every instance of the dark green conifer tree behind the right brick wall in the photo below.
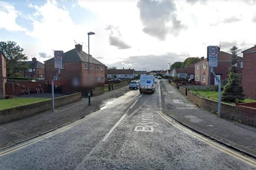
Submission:
<svg viewBox="0 0 256 170">
<path fill-rule="evenodd" d="M 228 83 L 224 86 L 224 92 L 222 93 L 222 101 L 224 102 L 236 102 L 236 100 L 244 99 L 243 87 L 240 84 L 236 66 L 234 66 L 237 62 L 237 53 L 240 49 L 233 46 L 230 51 L 232 62 L 229 67 Z"/>
</svg>

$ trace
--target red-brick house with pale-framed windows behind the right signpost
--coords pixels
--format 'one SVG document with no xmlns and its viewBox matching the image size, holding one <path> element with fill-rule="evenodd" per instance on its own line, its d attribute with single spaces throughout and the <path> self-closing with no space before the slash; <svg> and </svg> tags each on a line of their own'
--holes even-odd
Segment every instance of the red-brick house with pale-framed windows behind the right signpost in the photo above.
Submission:
<svg viewBox="0 0 256 170">
<path fill-rule="evenodd" d="M 231 54 L 220 51 L 218 52 L 218 67 L 214 67 L 215 74 L 221 80 L 228 79 L 228 68 L 231 65 L 232 57 Z M 238 70 L 238 74 L 242 74 L 242 67 L 243 67 L 243 58 L 237 57 L 237 63 L 235 64 Z M 209 70 L 209 63 L 207 59 L 201 57 L 201 61 L 195 64 L 195 81 L 200 81 L 202 85 L 218 85 L 218 82 L 214 75 L 211 73 L 211 80 L 210 77 L 210 70 Z"/>
</svg>

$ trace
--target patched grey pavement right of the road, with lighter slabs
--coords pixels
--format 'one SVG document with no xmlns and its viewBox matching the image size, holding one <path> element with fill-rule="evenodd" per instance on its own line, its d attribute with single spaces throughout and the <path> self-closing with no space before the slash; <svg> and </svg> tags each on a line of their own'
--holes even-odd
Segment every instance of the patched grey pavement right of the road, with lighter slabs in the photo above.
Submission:
<svg viewBox="0 0 256 170">
<path fill-rule="evenodd" d="M 220 143 L 238 149 L 256 158 L 256 128 L 220 119 L 199 108 L 166 80 L 161 84 L 162 109 L 180 123 Z"/>
</svg>

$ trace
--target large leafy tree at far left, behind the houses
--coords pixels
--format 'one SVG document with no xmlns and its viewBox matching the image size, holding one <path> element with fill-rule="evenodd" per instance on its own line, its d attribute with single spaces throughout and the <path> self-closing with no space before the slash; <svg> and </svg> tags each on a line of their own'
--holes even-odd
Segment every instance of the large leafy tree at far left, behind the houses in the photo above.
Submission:
<svg viewBox="0 0 256 170">
<path fill-rule="evenodd" d="M 24 69 L 24 65 L 18 64 L 22 60 L 27 60 L 28 57 L 22 54 L 23 49 L 16 45 L 14 41 L 1 41 L 0 51 L 6 55 L 6 74 L 8 77 L 15 76 L 15 73 Z"/>
</svg>

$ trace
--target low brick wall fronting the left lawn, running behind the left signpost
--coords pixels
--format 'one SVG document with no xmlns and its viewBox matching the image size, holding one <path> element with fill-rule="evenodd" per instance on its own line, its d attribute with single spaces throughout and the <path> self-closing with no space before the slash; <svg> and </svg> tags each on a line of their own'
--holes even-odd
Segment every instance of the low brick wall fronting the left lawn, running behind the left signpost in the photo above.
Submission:
<svg viewBox="0 0 256 170">
<path fill-rule="evenodd" d="M 54 98 L 54 106 L 58 107 L 58 106 L 66 105 L 72 102 L 77 102 L 80 99 L 81 99 L 81 93 L 70 94 L 67 96 Z M 12 99 L 8 99 L 8 100 L 12 100 Z M 24 106 L 18 106 L 10 109 L 0 110 L 0 123 L 15 120 L 15 119 L 20 119 L 22 117 L 27 117 L 27 116 L 39 113 L 41 111 L 51 109 L 52 108 L 51 102 L 52 100 L 50 99 L 50 100 L 46 100 L 46 101 L 38 102 L 34 104 L 28 104 Z"/>
</svg>

